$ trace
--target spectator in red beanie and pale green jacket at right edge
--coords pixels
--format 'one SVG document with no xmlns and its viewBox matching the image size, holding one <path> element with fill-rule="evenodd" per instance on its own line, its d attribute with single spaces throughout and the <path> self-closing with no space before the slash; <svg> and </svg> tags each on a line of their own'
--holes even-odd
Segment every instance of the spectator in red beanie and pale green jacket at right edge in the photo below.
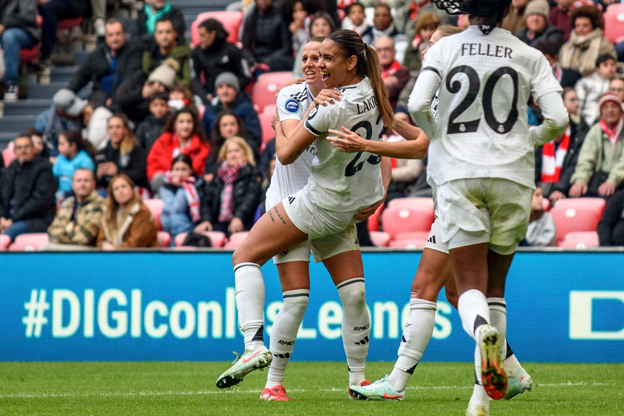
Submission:
<svg viewBox="0 0 624 416">
<path fill-rule="evenodd" d="M 590 128 L 578 155 L 568 196 L 612 196 L 624 180 L 622 102 L 609 92 L 600 99 L 600 123 Z"/>
</svg>

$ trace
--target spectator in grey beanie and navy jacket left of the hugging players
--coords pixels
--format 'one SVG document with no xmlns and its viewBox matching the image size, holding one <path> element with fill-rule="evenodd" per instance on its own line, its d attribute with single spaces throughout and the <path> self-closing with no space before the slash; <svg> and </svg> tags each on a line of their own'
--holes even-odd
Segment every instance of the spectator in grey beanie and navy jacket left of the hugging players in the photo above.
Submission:
<svg viewBox="0 0 624 416">
<path fill-rule="evenodd" d="M 217 97 L 210 105 L 206 106 L 203 114 L 203 127 L 206 132 L 212 132 L 217 115 L 223 109 L 231 109 L 243 120 L 247 132 L 256 133 L 256 143 L 260 147 L 262 137 L 260 135 L 260 120 L 256 110 L 251 104 L 251 97 L 240 90 L 238 78 L 232 72 L 223 72 L 215 80 L 215 92 Z"/>
</svg>

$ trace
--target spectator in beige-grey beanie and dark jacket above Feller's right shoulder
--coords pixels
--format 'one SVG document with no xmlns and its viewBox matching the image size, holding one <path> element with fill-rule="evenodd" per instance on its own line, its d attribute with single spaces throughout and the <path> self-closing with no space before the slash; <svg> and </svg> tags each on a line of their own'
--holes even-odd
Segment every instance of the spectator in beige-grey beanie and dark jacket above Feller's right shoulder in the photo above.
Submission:
<svg viewBox="0 0 624 416">
<path fill-rule="evenodd" d="M 515 32 L 520 41 L 529 46 L 535 46 L 541 41 L 552 41 L 560 47 L 563 44 L 563 32 L 558 27 L 548 24 L 550 7 L 546 0 L 533 0 L 527 4 L 524 11 L 527 28 Z"/>
</svg>

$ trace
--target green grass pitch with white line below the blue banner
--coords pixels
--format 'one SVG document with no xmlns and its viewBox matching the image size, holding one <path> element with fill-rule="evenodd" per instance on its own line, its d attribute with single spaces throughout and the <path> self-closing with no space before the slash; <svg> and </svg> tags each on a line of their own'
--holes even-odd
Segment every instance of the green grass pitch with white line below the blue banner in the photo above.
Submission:
<svg viewBox="0 0 624 416">
<path fill-rule="evenodd" d="M 2 362 L 0 415 L 457 415 L 472 392 L 472 364 L 419 364 L 404 402 L 348 400 L 346 364 L 293 362 L 286 371 L 292 402 L 261 402 L 266 371 L 219 390 L 227 362 Z M 492 402 L 490 414 L 624 415 L 623 364 L 525 363 L 531 392 Z M 371 362 L 370 380 L 392 369 Z"/>
</svg>

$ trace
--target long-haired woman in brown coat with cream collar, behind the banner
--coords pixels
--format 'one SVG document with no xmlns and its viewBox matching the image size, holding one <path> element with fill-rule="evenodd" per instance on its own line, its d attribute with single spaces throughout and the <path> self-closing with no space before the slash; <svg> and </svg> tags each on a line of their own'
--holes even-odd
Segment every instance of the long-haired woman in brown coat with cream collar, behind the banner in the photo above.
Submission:
<svg viewBox="0 0 624 416">
<path fill-rule="evenodd" d="M 105 250 L 157 247 L 158 226 L 127 175 L 109 183 L 97 246 Z"/>
</svg>

